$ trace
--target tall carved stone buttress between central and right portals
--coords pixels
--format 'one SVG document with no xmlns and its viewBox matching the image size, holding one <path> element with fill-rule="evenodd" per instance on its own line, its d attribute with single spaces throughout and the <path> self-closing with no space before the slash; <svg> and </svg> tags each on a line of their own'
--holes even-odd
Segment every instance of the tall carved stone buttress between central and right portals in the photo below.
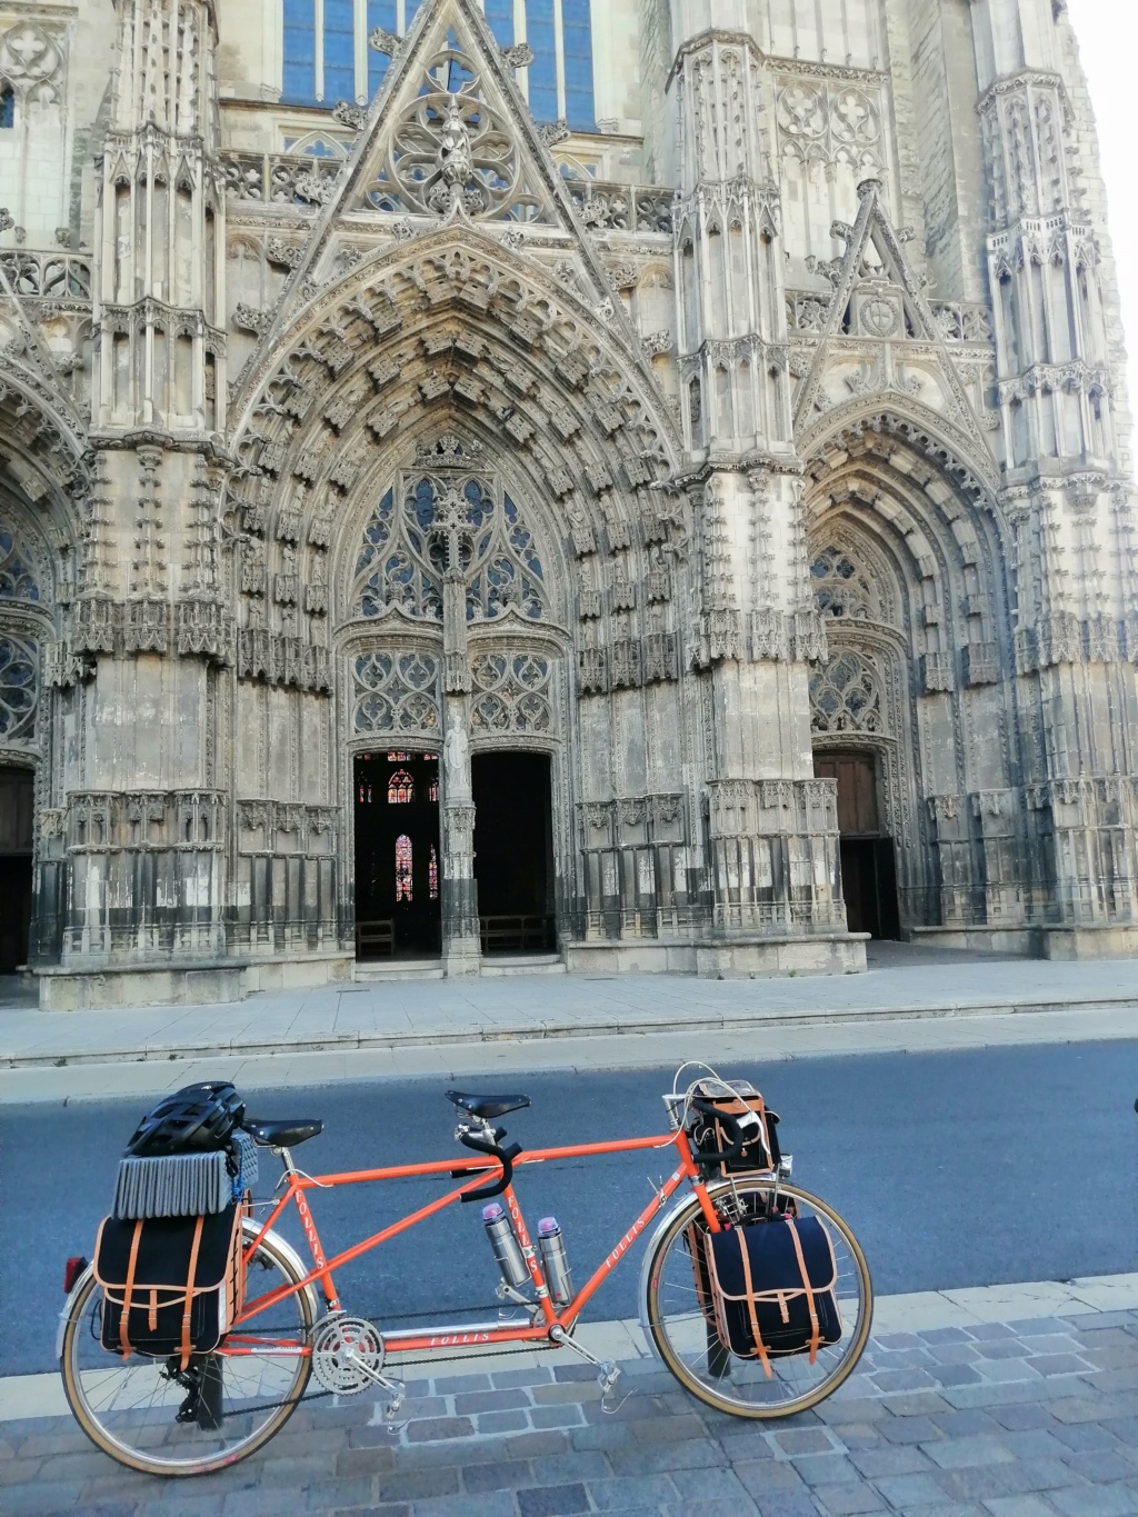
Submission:
<svg viewBox="0 0 1138 1517">
<path fill-rule="evenodd" d="M 715 9 L 715 8 L 710 8 Z M 692 664 L 706 683 L 712 928 L 730 966 L 862 966 L 847 939 L 836 790 L 815 780 L 809 664 L 824 657 L 791 417 L 780 196 L 765 61 L 737 30 L 675 38 L 677 303 L 696 549 Z M 707 8 L 692 8 L 692 26 Z M 730 23 L 728 23 L 730 24 Z M 813 938 L 815 944 L 806 942 Z M 801 939 L 794 954 L 777 942 Z M 818 939 L 824 939 L 825 945 Z"/>
</svg>

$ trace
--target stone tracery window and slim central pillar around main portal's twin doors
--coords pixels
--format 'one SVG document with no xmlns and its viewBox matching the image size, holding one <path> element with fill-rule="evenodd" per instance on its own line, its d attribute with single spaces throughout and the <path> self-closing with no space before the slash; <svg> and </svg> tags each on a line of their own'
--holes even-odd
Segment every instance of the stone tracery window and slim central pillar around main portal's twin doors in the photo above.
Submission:
<svg viewBox="0 0 1138 1517">
<path fill-rule="evenodd" d="M 476 972 L 479 962 L 472 754 L 548 754 L 555 816 L 572 815 L 575 792 L 564 745 L 572 642 L 557 616 L 566 596 L 560 555 L 498 463 L 469 431 L 420 441 L 379 487 L 363 526 L 354 531 L 346 516 L 331 555 L 346 731 L 337 746 L 347 758 L 341 793 L 351 796 L 352 755 L 376 742 L 443 754 L 448 974 Z M 351 843 L 346 854 L 349 878 Z M 558 878 L 571 877 L 564 825 L 555 827 L 554 854 Z M 566 894 L 558 889 L 558 898 Z"/>
</svg>

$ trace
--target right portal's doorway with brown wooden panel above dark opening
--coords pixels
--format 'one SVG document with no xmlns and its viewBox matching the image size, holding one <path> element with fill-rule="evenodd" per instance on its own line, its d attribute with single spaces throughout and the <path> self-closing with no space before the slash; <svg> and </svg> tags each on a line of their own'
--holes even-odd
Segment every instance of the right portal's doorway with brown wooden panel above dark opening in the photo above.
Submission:
<svg viewBox="0 0 1138 1517">
<path fill-rule="evenodd" d="M 816 752 L 813 772 L 838 781 L 845 921 L 851 933 L 900 938 L 894 840 L 882 833 L 877 760 L 871 752 Z"/>
</svg>

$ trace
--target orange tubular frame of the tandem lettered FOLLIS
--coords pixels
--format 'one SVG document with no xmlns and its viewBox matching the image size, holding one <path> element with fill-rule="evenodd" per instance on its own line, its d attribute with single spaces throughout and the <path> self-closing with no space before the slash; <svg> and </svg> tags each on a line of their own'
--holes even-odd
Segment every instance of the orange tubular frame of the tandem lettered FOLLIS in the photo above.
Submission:
<svg viewBox="0 0 1138 1517">
<path fill-rule="evenodd" d="M 530 1242 L 530 1232 L 525 1226 L 525 1218 L 522 1217 L 522 1209 L 514 1195 L 513 1185 L 508 1185 L 502 1192 L 502 1200 L 510 1212 L 510 1220 L 517 1233 L 517 1241 L 522 1245 L 527 1264 L 530 1267 L 530 1279 L 537 1296 L 537 1306 L 540 1308 L 542 1320 L 533 1320 L 530 1323 L 504 1323 L 501 1326 L 490 1324 L 472 1324 L 466 1327 L 439 1327 L 426 1329 L 423 1332 L 393 1332 L 384 1333 L 384 1347 L 388 1353 L 423 1353 L 428 1350 L 439 1349 L 464 1349 L 476 1344 L 496 1344 L 496 1343 L 533 1343 L 533 1341 L 548 1341 L 549 1332 L 554 1327 L 561 1327 L 569 1332 L 580 1317 L 583 1308 L 589 1299 L 598 1291 L 601 1283 L 605 1280 L 608 1273 L 621 1262 L 633 1242 L 640 1236 L 640 1233 L 648 1227 L 652 1218 L 659 1214 L 665 1201 L 668 1201 L 683 1185 L 684 1180 L 692 1183 L 695 1194 L 699 1198 L 703 1214 L 707 1220 L 709 1229 L 713 1232 L 719 1230 L 719 1220 L 715 1214 L 707 1197 L 707 1186 L 699 1179 L 699 1170 L 696 1168 L 692 1151 L 690 1141 L 683 1127 L 672 1133 L 654 1136 L 654 1138 L 624 1138 L 615 1142 L 592 1142 L 592 1144 L 575 1144 L 564 1148 L 536 1148 L 533 1151 L 520 1153 L 514 1161 L 514 1170 L 522 1168 L 528 1164 L 546 1164 L 555 1159 L 581 1159 L 593 1154 L 604 1153 L 634 1153 L 636 1150 L 651 1150 L 651 1148 L 666 1148 L 674 1147 L 677 1151 L 678 1164 L 672 1174 L 662 1182 L 657 1192 L 652 1195 L 651 1201 L 645 1206 L 636 1221 L 628 1227 L 628 1230 L 619 1238 L 616 1245 L 605 1255 L 596 1270 L 592 1273 L 589 1280 L 575 1292 L 572 1302 L 567 1306 L 555 1308 L 549 1297 L 549 1289 L 546 1286 L 545 1276 L 537 1258 L 537 1250 Z M 448 1206 L 461 1201 L 463 1195 L 469 1191 L 478 1189 L 487 1183 L 487 1179 L 493 1179 L 495 1171 L 501 1176 L 501 1164 L 486 1157 L 475 1159 L 443 1159 L 434 1164 L 410 1164 L 410 1165 L 395 1165 L 382 1170 L 354 1170 L 344 1174 L 322 1174 L 322 1176 L 307 1176 L 300 1174 L 293 1165 L 291 1159 L 285 1159 L 285 1174 L 288 1177 L 288 1185 L 279 1201 L 273 1206 L 272 1212 L 259 1227 L 256 1238 L 247 1245 L 244 1259 L 249 1264 L 250 1258 L 256 1252 L 256 1247 L 273 1226 L 273 1223 L 281 1217 L 288 1203 L 291 1201 L 300 1217 L 303 1226 L 305 1239 L 313 1256 L 313 1268 L 308 1274 L 297 1280 L 294 1285 L 282 1285 L 273 1291 L 258 1296 L 252 1302 L 246 1302 L 241 1315 L 234 1321 L 234 1327 L 223 1347 L 222 1353 L 226 1355 L 241 1355 L 241 1353 L 258 1353 L 264 1352 L 262 1347 L 258 1349 L 243 1349 L 240 1327 L 250 1323 L 261 1312 L 266 1312 L 278 1305 L 278 1302 L 285 1300 L 290 1296 L 296 1296 L 300 1291 L 308 1289 L 311 1285 L 319 1283 L 323 1291 L 325 1300 L 329 1311 L 340 1311 L 340 1297 L 335 1291 L 335 1282 L 332 1274 L 341 1265 L 349 1264 L 352 1259 L 358 1259 L 360 1255 L 367 1253 L 372 1248 L 378 1248 L 379 1244 L 385 1242 L 388 1238 L 395 1238 L 408 1227 L 414 1227 L 416 1223 L 425 1221 L 428 1217 L 434 1217 L 437 1212 L 445 1211 Z M 445 1195 L 437 1197 L 426 1206 L 419 1208 L 419 1211 L 408 1214 L 388 1227 L 382 1227 L 378 1233 L 370 1238 L 364 1238 L 363 1242 L 354 1244 L 351 1248 L 344 1248 L 341 1253 L 335 1255 L 332 1259 L 325 1256 L 323 1247 L 320 1244 L 320 1235 L 316 1229 L 316 1221 L 308 1208 L 307 1192 L 316 1189 L 332 1189 L 340 1185 L 367 1185 L 378 1180 L 405 1180 L 405 1179 L 420 1179 L 423 1176 L 439 1174 L 458 1177 L 460 1174 L 473 1174 L 475 1179 L 448 1191 Z M 237 1340 L 234 1340 L 234 1332 L 237 1332 Z M 290 1352 L 281 1349 L 278 1352 Z M 303 1349 L 302 1352 L 308 1352 Z"/>
</svg>

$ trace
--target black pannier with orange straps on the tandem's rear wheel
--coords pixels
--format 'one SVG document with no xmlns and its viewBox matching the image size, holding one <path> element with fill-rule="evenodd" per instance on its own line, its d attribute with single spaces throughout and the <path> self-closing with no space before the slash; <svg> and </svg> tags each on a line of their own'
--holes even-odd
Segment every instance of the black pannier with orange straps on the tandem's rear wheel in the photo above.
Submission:
<svg viewBox="0 0 1138 1517">
<path fill-rule="evenodd" d="M 94 1256 L 103 1347 L 176 1355 L 182 1368 L 217 1349 L 244 1303 L 241 1215 L 231 1201 L 212 1217 L 105 1218 Z"/>
</svg>

